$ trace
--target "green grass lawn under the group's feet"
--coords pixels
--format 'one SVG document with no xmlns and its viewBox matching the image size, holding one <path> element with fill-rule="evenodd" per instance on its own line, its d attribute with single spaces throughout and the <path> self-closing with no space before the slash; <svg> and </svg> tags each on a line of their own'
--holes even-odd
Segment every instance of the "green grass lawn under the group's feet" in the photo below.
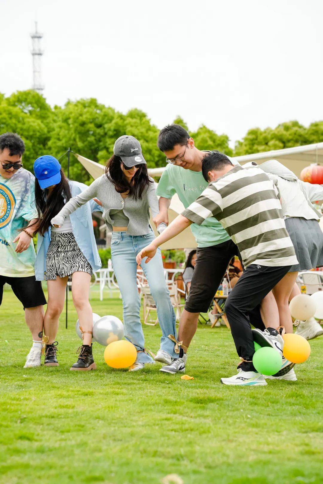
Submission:
<svg viewBox="0 0 323 484">
<path fill-rule="evenodd" d="M 97 294 L 94 312 L 122 318 L 120 299 Z M 68 330 L 65 313 L 60 319 L 59 366 L 23 369 L 30 333 L 20 303 L 4 293 L 1 484 L 160 484 L 168 474 L 184 484 L 323 482 L 322 337 L 295 368 L 297 382 L 236 388 L 220 384 L 238 361 L 225 327 L 199 326 L 186 368 L 194 380 L 162 374 L 159 363 L 113 370 L 97 343 L 97 370 L 70 372 L 80 344 L 75 315 L 71 301 Z M 144 332 L 156 352 L 159 327 Z"/>
</svg>

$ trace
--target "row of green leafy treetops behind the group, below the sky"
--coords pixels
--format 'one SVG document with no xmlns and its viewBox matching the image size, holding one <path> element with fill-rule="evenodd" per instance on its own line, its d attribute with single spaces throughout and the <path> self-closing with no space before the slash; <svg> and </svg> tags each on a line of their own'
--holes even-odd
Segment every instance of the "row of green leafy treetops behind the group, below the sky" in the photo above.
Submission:
<svg viewBox="0 0 323 484">
<path fill-rule="evenodd" d="M 323 141 L 323 121 L 312 122 L 308 127 L 298 121 L 288 121 L 276 128 L 250 129 L 246 136 L 236 141 L 233 151 L 225 134 L 218 135 L 204 124 L 191 132 L 180 116 L 173 122 L 189 131 L 197 148 L 219 150 L 229 156 Z M 0 93 L 0 132 L 6 131 L 18 133 L 25 141 L 23 164 L 31 171 L 38 156 L 52 154 L 58 158 L 68 148 L 105 164 L 113 154 L 115 140 L 124 134 L 140 141 L 148 167 L 165 165 L 165 157 L 157 148 L 159 129 L 146 113 L 130 109 L 123 114 L 95 98 L 67 101 L 64 106 L 52 108 L 36 91 L 17 91 L 8 97 Z M 61 159 L 61 164 L 66 168 L 66 157 Z M 85 183 L 90 181 L 88 172 L 73 156 L 70 178 Z"/>
</svg>

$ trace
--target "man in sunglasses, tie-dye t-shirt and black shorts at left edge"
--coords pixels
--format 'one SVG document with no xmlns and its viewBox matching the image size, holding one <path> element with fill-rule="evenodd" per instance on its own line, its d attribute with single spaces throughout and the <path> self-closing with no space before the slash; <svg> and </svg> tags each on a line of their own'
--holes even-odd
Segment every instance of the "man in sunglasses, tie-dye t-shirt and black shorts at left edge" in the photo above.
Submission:
<svg viewBox="0 0 323 484">
<path fill-rule="evenodd" d="M 32 222 L 38 217 L 35 178 L 22 168 L 24 151 L 24 142 L 18 135 L 0 135 L 0 305 L 7 283 L 25 309 L 32 334 L 33 345 L 24 366 L 29 368 L 41 362 L 46 300 L 41 282 L 35 279 L 32 242 Z"/>
</svg>

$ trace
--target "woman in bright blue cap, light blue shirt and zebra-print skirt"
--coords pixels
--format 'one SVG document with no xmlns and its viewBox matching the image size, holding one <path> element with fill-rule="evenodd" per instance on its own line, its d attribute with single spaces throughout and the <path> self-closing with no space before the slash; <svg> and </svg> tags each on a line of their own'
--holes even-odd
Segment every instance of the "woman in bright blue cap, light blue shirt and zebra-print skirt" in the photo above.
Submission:
<svg viewBox="0 0 323 484">
<path fill-rule="evenodd" d="M 77 363 L 71 370 L 87 371 L 96 368 L 92 355 L 92 308 L 88 301 L 92 272 L 101 267 L 95 243 L 91 212 L 101 207 L 93 200 L 66 217 L 61 227 L 51 227 L 51 218 L 73 196 L 87 188 L 83 183 L 69 181 L 58 160 L 44 155 L 34 163 L 35 202 L 38 211 L 38 240 L 35 262 L 36 280 L 47 281 L 48 304 L 44 317 L 44 334 L 48 341 L 45 351 L 46 366 L 57 366 L 56 335 L 59 316 L 63 310 L 65 289 L 72 278 L 72 296 L 83 345 Z"/>
</svg>

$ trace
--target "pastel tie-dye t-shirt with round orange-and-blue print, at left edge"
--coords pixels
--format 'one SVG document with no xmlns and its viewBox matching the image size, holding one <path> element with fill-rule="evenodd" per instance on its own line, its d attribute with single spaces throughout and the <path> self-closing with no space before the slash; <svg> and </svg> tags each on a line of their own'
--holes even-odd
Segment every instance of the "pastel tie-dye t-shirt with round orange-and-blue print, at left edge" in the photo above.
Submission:
<svg viewBox="0 0 323 484">
<path fill-rule="evenodd" d="M 34 275 L 36 255 L 33 242 L 21 254 L 15 252 L 17 243 L 13 243 L 18 230 L 37 217 L 34 192 L 35 178 L 24 168 L 9 179 L 0 176 L 0 275 Z"/>
</svg>

